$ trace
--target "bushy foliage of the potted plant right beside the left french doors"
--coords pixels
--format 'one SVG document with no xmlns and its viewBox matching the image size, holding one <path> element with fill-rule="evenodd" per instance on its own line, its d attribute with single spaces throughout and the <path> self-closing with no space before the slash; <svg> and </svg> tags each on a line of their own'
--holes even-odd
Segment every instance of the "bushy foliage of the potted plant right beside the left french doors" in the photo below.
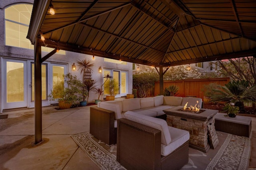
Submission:
<svg viewBox="0 0 256 170">
<path fill-rule="evenodd" d="M 51 90 L 48 95 L 49 100 L 65 101 L 67 103 L 75 104 L 81 97 L 80 93 L 81 81 L 72 76 L 71 73 L 63 75 L 64 82 L 59 82 L 54 89 Z M 66 84 L 66 86 L 64 86 Z"/>
</svg>

